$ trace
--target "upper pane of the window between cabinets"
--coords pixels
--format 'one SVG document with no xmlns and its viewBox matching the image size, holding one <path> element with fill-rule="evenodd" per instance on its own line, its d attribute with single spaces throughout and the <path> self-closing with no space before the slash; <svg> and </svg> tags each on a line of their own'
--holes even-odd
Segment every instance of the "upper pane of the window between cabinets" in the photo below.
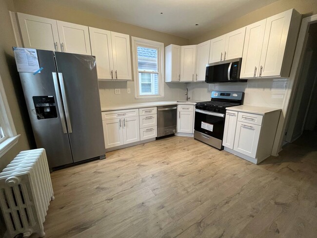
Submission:
<svg viewBox="0 0 317 238">
<path fill-rule="evenodd" d="M 138 70 L 139 71 L 158 71 L 158 50 L 138 46 Z"/>
</svg>

